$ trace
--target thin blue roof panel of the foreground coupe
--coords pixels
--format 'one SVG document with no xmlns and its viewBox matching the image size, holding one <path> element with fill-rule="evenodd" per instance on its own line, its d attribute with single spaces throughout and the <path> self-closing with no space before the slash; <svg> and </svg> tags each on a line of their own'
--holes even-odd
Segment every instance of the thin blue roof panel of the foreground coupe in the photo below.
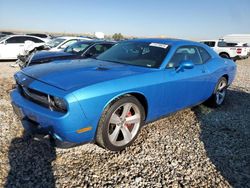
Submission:
<svg viewBox="0 0 250 188">
<path fill-rule="evenodd" d="M 138 41 L 138 42 L 150 42 L 150 43 L 161 43 L 167 45 L 197 45 L 198 42 L 184 40 L 184 39 L 174 39 L 174 38 L 143 38 L 143 39 L 131 39 L 127 41 Z"/>
</svg>

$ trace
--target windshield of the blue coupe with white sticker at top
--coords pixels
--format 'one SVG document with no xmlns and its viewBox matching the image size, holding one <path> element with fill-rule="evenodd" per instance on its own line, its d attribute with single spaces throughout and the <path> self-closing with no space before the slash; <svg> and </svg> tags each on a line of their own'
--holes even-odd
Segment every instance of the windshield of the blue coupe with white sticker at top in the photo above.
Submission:
<svg viewBox="0 0 250 188">
<path fill-rule="evenodd" d="M 168 51 L 169 47 L 166 44 L 126 41 L 113 46 L 99 55 L 97 59 L 157 68 L 161 65 Z"/>
</svg>

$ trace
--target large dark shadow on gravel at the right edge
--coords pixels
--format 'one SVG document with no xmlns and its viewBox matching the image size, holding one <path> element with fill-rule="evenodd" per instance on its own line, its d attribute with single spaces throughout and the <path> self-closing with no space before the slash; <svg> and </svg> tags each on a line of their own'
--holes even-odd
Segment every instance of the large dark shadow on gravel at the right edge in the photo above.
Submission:
<svg viewBox="0 0 250 188">
<path fill-rule="evenodd" d="M 233 187 L 250 187 L 250 93 L 228 90 L 225 103 L 192 109 L 200 122 L 207 156 Z"/>
</svg>

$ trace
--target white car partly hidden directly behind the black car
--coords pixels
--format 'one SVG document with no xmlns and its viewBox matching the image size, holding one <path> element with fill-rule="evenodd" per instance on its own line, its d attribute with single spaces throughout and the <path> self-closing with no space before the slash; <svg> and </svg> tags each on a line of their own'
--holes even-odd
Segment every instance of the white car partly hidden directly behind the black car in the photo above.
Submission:
<svg viewBox="0 0 250 188">
<path fill-rule="evenodd" d="M 57 51 L 62 51 L 69 45 L 82 40 L 91 40 L 91 39 L 85 37 L 57 37 L 46 43 L 46 45 L 51 48 L 49 51 L 57 52 Z"/>
</svg>

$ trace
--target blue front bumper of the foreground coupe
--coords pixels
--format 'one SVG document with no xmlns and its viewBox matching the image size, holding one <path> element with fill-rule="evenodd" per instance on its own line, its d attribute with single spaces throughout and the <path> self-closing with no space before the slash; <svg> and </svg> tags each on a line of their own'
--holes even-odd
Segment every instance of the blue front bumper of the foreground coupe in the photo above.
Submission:
<svg viewBox="0 0 250 188">
<path fill-rule="evenodd" d="M 12 106 L 22 120 L 25 130 L 32 134 L 49 134 L 60 142 L 81 144 L 91 142 L 95 129 L 78 132 L 84 127 L 92 127 L 78 102 L 70 105 L 67 113 L 51 111 L 24 98 L 17 89 L 11 92 Z"/>
</svg>

